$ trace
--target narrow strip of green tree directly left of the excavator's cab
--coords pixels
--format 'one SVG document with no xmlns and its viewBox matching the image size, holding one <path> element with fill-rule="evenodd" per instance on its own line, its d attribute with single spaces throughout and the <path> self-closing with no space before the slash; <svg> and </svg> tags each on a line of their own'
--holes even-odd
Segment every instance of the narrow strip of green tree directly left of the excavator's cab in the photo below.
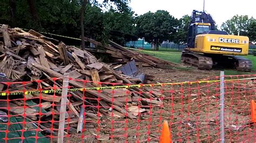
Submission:
<svg viewBox="0 0 256 143">
<path fill-rule="evenodd" d="M 190 16 L 185 15 L 182 18 L 180 18 L 177 35 L 173 41 L 177 43 L 183 43 L 183 44 L 186 43 L 189 26 L 190 26 Z"/>
</svg>

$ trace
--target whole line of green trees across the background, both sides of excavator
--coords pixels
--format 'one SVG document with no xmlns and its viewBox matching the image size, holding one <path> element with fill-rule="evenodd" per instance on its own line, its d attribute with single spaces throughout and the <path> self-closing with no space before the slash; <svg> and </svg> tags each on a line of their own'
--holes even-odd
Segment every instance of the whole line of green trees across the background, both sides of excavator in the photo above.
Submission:
<svg viewBox="0 0 256 143">
<path fill-rule="evenodd" d="M 12 27 L 76 38 L 84 34 L 98 41 L 111 39 L 119 44 L 145 38 L 157 48 L 166 40 L 185 44 L 190 24 L 190 16 L 177 19 L 164 10 L 138 16 L 129 7 L 129 1 L 122 0 L 104 0 L 102 4 L 97 0 L 3 0 L 0 11 L 0 23 Z M 255 27 L 254 18 L 235 15 L 221 25 L 221 30 L 256 41 Z"/>
</svg>

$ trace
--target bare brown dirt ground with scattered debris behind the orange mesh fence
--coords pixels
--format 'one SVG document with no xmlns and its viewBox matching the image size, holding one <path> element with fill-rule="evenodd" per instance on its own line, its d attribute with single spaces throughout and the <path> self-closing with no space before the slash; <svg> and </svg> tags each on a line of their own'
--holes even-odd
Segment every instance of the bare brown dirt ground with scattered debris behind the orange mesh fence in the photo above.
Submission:
<svg viewBox="0 0 256 143">
<path fill-rule="evenodd" d="M 216 73 L 219 72 L 151 67 L 139 71 L 156 76 L 155 81 L 159 83 L 199 81 L 205 78 L 216 80 Z M 256 138 L 255 128 L 250 125 L 250 101 L 254 97 L 254 90 L 239 88 L 246 87 L 247 82 L 226 83 L 225 141 L 253 142 Z M 140 105 L 146 111 L 140 113 L 137 119 L 118 118 L 110 113 L 98 120 L 100 124 L 96 121 L 87 123 L 87 126 L 92 127 L 69 138 L 69 141 L 97 142 L 99 135 L 100 142 L 158 142 L 163 120 L 169 121 L 172 141 L 220 141 L 219 83 L 165 85 L 151 90 L 163 94 L 160 105 Z"/>
</svg>

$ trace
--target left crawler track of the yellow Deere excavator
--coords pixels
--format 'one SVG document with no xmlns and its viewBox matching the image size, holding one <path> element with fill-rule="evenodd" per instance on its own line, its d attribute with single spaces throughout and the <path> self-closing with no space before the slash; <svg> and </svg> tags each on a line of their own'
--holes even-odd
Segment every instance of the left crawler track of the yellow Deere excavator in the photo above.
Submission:
<svg viewBox="0 0 256 143">
<path fill-rule="evenodd" d="M 189 63 L 192 66 L 198 67 L 198 69 L 211 70 L 213 66 L 212 58 L 203 54 L 183 52 L 181 62 Z"/>
</svg>

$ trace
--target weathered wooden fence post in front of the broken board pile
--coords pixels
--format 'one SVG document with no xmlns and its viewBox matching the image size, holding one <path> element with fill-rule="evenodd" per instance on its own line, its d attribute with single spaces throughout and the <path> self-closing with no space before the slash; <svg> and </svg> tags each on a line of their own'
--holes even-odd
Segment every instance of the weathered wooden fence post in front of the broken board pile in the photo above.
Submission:
<svg viewBox="0 0 256 143">
<path fill-rule="evenodd" d="M 64 79 L 63 79 L 63 87 L 62 87 L 62 101 L 60 102 L 60 111 L 59 111 L 58 143 L 63 143 L 63 139 L 64 139 L 66 103 L 68 102 L 68 87 L 69 87 L 69 74 L 65 73 Z"/>
</svg>

